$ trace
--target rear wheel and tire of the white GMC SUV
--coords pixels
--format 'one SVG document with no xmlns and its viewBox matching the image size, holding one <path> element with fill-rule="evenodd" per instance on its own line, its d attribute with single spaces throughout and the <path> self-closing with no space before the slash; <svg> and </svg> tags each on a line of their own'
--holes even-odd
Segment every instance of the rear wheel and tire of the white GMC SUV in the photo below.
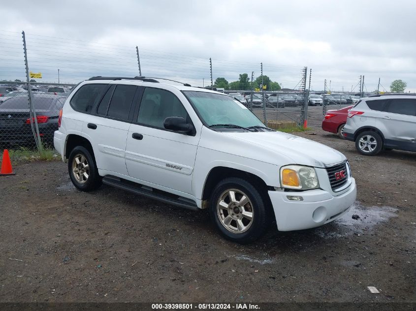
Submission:
<svg viewBox="0 0 416 311">
<path fill-rule="evenodd" d="M 92 191 L 101 185 L 96 161 L 90 151 L 83 146 L 76 146 L 69 154 L 68 173 L 72 183 L 79 190 Z"/>
</svg>

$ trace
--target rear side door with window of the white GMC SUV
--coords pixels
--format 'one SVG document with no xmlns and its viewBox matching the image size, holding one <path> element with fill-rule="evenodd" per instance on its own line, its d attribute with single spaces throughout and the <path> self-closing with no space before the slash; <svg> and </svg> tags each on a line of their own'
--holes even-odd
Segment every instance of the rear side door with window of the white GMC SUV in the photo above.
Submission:
<svg viewBox="0 0 416 311">
<path fill-rule="evenodd" d="M 136 85 L 109 85 L 100 103 L 83 123 L 82 132 L 93 144 L 97 168 L 105 170 L 104 174 L 128 175 L 126 138 L 137 90 Z"/>
</svg>

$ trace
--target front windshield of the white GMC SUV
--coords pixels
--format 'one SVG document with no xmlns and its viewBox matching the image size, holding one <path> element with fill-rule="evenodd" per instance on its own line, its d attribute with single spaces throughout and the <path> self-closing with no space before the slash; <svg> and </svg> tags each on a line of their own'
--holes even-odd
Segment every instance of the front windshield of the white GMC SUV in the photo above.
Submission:
<svg viewBox="0 0 416 311">
<path fill-rule="evenodd" d="M 264 126 L 246 106 L 227 95 L 195 91 L 184 93 L 208 126 L 214 124 Z"/>
</svg>

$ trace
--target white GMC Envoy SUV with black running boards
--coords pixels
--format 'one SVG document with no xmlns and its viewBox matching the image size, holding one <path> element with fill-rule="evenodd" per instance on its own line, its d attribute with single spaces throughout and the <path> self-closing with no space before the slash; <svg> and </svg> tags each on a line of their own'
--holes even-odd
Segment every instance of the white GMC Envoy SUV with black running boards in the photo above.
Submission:
<svg viewBox="0 0 416 311">
<path fill-rule="evenodd" d="M 94 77 L 73 88 L 55 148 L 80 190 L 100 183 L 195 210 L 228 239 L 329 223 L 356 186 L 346 157 L 264 127 L 232 97 L 157 78 Z"/>
</svg>

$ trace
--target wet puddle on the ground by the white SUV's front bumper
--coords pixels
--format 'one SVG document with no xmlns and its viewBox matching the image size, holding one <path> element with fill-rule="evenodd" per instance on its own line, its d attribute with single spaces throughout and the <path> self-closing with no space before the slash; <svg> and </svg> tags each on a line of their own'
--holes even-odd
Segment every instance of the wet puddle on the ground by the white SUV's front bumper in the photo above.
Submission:
<svg viewBox="0 0 416 311">
<path fill-rule="evenodd" d="M 334 222 L 316 229 L 315 234 L 322 238 L 336 238 L 351 234 L 360 234 L 371 230 L 374 226 L 387 222 L 390 218 L 396 217 L 396 208 L 389 206 L 362 206 L 355 201 L 351 209 L 341 218 Z M 358 215 L 353 219 L 352 215 Z"/>
</svg>

